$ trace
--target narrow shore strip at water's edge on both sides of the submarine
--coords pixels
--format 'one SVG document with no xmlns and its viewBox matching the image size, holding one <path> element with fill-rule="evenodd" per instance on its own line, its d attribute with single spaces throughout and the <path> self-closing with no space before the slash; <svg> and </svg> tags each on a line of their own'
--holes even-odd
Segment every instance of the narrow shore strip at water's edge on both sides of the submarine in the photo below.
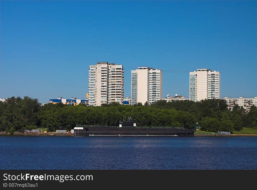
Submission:
<svg viewBox="0 0 257 190">
<path fill-rule="evenodd" d="M 0 135 L 10 135 L 10 133 L 0 132 Z M 13 136 L 73 136 L 73 133 L 13 133 Z M 257 137 L 256 135 L 247 134 L 230 134 L 230 135 L 217 135 L 217 134 L 194 134 L 194 136 L 218 136 L 218 137 Z"/>
</svg>

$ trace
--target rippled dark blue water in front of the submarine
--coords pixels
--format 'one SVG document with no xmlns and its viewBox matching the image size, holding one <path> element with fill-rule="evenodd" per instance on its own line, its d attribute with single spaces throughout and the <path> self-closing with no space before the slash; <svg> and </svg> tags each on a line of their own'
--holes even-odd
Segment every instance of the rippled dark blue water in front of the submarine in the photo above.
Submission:
<svg viewBox="0 0 257 190">
<path fill-rule="evenodd" d="M 0 168 L 257 169 L 257 138 L 0 136 Z"/>
</svg>

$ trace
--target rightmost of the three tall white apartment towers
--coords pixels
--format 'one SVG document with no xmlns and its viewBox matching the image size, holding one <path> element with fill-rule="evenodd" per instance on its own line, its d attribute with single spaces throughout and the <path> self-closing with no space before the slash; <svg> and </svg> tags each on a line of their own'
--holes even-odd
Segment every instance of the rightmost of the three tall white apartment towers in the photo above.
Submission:
<svg viewBox="0 0 257 190">
<path fill-rule="evenodd" d="M 189 98 L 191 101 L 220 98 L 220 72 L 199 68 L 190 72 Z"/>
</svg>

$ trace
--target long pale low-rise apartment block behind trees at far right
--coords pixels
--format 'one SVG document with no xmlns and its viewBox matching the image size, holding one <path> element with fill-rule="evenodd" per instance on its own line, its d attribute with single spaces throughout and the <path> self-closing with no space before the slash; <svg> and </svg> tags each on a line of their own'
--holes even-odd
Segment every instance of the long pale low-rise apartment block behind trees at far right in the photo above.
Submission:
<svg viewBox="0 0 257 190">
<path fill-rule="evenodd" d="M 229 97 L 224 97 L 221 98 L 223 100 L 226 100 L 228 109 L 230 111 L 233 110 L 234 106 L 237 104 L 240 107 L 243 106 L 243 108 L 246 110 L 246 112 L 250 111 L 250 108 L 252 105 L 257 106 L 257 97 L 254 98 L 244 98 L 243 96 L 239 98 L 229 98 Z"/>
</svg>

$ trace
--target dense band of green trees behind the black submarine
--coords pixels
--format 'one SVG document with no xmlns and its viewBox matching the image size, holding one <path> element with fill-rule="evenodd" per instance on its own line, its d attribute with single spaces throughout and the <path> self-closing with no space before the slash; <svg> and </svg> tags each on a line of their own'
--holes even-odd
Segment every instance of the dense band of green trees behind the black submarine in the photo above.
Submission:
<svg viewBox="0 0 257 190">
<path fill-rule="evenodd" d="M 77 106 L 62 103 L 41 105 L 38 99 L 28 96 L 11 97 L 0 102 L 0 131 L 48 128 L 73 129 L 76 124 L 119 125 L 123 117 L 132 116 L 137 126 L 175 126 L 192 129 L 196 122 L 204 131 L 233 131 L 243 127 L 257 128 L 257 108 L 248 113 L 243 107 L 234 106 L 231 112 L 225 100 L 157 101 L 148 105 Z"/>
</svg>

